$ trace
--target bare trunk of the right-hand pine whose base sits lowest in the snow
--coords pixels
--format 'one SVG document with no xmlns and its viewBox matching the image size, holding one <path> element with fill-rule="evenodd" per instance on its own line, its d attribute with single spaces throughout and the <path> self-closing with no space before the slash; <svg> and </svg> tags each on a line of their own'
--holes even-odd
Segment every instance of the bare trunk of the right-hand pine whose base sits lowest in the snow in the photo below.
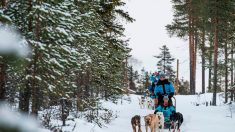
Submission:
<svg viewBox="0 0 235 132">
<path fill-rule="evenodd" d="M 217 65 L 218 65 L 218 18 L 215 18 L 214 29 L 214 81 L 213 81 L 213 100 L 212 105 L 216 106 L 216 93 L 217 93 Z"/>
</svg>

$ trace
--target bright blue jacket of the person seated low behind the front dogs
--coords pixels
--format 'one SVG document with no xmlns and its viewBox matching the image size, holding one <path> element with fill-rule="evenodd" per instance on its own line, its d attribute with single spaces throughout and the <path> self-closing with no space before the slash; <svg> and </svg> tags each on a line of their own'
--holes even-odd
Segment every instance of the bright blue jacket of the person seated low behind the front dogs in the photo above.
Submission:
<svg viewBox="0 0 235 132">
<path fill-rule="evenodd" d="M 170 121 L 170 116 L 173 112 L 175 112 L 175 107 L 174 106 L 163 106 L 159 105 L 156 108 L 157 112 L 163 112 L 165 122 Z"/>
</svg>

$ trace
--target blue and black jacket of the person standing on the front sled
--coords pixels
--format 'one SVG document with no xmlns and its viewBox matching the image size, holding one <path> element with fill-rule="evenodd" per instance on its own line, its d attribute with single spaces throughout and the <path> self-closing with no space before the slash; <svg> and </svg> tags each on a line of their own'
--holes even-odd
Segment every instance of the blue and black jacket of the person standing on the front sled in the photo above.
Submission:
<svg viewBox="0 0 235 132">
<path fill-rule="evenodd" d="M 165 90 L 163 89 L 163 85 L 165 87 Z M 174 94 L 174 92 L 175 92 L 175 89 L 174 89 L 172 83 L 169 82 L 167 79 L 164 81 L 159 80 L 157 85 L 154 88 L 154 94 L 156 94 L 156 95 L 159 95 L 159 94 L 169 95 L 169 94 Z"/>
</svg>

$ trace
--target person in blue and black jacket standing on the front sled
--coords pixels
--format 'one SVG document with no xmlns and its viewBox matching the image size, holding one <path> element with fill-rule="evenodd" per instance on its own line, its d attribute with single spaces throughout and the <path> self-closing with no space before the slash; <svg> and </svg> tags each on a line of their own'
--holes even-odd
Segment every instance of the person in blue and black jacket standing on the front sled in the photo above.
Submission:
<svg viewBox="0 0 235 132">
<path fill-rule="evenodd" d="M 161 72 L 159 76 L 160 79 L 154 88 L 154 94 L 157 96 L 159 103 L 163 103 L 163 96 L 167 95 L 169 97 L 169 105 L 172 105 L 171 98 L 174 96 L 175 89 L 172 83 L 166 79 L 165 73 Z"/>
</svg>

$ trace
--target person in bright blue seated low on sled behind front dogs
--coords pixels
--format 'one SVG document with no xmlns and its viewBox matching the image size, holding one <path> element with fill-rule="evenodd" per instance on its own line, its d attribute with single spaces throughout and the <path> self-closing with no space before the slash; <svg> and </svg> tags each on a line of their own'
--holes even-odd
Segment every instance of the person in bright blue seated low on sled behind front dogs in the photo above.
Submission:
<svg viewBox="0 0 235 132">
<path fill-rule="evenodd" d="M 163 97 L 164 103 L 159 105 L 154 111 L 154 114 L 156 114 L 157 112 L 163 112 L 165 122 L 169 122 L 171 114 L 175 113 L 175 107 L 169 105 L 168 101 L 169 101 L 168 96 L 164 96 Z"/>
</svg>

